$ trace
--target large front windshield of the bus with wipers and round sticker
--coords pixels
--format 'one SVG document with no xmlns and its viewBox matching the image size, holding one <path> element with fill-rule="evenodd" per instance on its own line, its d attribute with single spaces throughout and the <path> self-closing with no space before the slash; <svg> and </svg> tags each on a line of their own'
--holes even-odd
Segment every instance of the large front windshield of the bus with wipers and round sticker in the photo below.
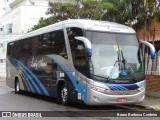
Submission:
<svg viewBox="0 0 160 120">
<path fill-rule="evenodd" d="M 86 31 L 92 44 L 90 73 L 108 79 L 144 76 L 142 52 L 136 34 Z"/>
</svg>

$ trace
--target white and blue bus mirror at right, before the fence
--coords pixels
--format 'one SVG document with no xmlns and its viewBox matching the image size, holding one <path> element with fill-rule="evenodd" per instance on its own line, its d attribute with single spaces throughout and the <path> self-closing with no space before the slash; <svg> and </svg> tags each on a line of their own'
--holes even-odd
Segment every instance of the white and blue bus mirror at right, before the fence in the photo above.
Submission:
<svg viewBox="0 0 160 120">
<path fill-rule="evenodd" d="M 155 59 L 155 56 L 156 56 L 155 47 L 151 43 L 149 43 L 147 41 L 140 41 L 140 43 L 142 45 L 145 45 L 145 46 L 149 47 L 151 59 Z"/>
</svg>

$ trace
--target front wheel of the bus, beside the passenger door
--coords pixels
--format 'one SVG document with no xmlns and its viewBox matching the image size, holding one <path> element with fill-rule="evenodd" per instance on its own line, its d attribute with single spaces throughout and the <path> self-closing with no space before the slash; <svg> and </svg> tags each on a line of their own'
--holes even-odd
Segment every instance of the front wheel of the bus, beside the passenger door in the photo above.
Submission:
<svg viewBox="0 0 160 120">
<path fill-rule="evenodd" d="M 68 105 L 69 103 L 69 100 L 68 100 L 68 94 L 69 91 L 68 91 L 68 88 L 65 84 L 62 85 L 61 87 L 61 102 L 62 104 L 64 105 Z"/>
</svg>

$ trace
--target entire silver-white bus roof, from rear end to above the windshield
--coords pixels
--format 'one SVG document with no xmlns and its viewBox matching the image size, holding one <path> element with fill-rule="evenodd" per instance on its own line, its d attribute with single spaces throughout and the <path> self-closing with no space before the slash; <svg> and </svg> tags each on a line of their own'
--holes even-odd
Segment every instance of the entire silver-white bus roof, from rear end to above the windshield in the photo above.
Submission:
<svg viewBox="0 0 160 120">
<path fill-rule="evenodd" d="M 114 23 L 114 22 L 86 20 L 86 19 L 69 19 L 69 20 L 61 21 L 61 22 L 40 28 L 38 30 L 32 31 L 30 33 L 24 34 L 22 37 L 18 39 L 14 39 L 12 41 L 25 39 L 25 38 L 33 37 L 39 34 L 44 34 L 47 32 L 63 29 L 64 27 L 78 27 L 85 30 L 103 31 L 103 32 L 136 33 L 132 28 L 128 26 Z"/>
</svg>

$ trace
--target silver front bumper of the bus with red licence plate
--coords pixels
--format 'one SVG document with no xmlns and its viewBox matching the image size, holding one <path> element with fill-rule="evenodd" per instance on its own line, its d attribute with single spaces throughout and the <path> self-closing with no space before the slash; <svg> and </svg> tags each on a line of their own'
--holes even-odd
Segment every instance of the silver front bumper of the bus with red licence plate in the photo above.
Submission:
<svg viewBox="0 0 160 120">
<path fill-rule="evenodd" d="M 132 95 L 108 95 L 88 88 L 87 94 L 88 105 L 138 104 L 145 98 L 145 88 Z"/>
</svg>

